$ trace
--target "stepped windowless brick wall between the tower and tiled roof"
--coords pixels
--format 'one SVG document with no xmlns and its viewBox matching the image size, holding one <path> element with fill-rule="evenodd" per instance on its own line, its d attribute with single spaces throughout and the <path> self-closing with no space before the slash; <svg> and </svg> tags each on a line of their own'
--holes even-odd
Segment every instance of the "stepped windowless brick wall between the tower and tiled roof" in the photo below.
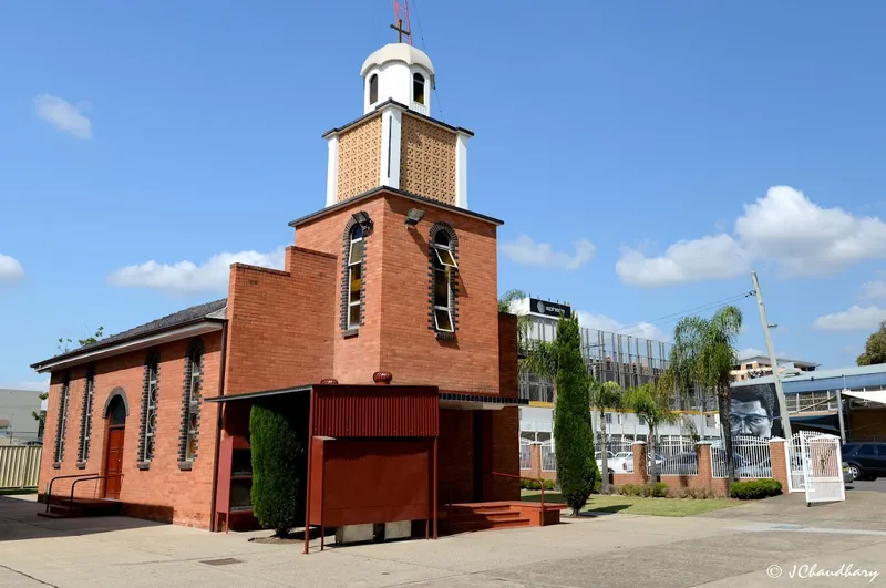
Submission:
<svg viewBox="0 0 886 588">
<path fill-rule="evenodd" d="M 288 247 L 286 269 L 231 266 L 226 394 L 332 376 L 336 257 Z"/>
</svg>

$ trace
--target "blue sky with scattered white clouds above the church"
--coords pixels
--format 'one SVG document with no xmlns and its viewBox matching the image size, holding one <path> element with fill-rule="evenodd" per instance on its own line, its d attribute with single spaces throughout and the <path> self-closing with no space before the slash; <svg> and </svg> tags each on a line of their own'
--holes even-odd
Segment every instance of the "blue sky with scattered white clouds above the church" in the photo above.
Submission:
<svg viewBox="0 0 886 588">
<path fill-rule="evenodd" d="M 886 4 L 430 2 L 433 113 L 470 127 L 499 288 L 589 326 L 751 289 L 780 353 L 839 367 L 886 319 Z M 59 337 L 225 296 L 324 203 L 388 1 L 17 2 L 0 13 L 0 385 Z M 418 17 L 418 18 L 416 18 Z M 442 110 L 441 110 L 442 107 Z M 127 269 L 128 268 L 128 269 Z M 763 348 L 753 299 L 739 347 Z M 637 326 L 639 323 L 639 326 Z"/>
</svg>

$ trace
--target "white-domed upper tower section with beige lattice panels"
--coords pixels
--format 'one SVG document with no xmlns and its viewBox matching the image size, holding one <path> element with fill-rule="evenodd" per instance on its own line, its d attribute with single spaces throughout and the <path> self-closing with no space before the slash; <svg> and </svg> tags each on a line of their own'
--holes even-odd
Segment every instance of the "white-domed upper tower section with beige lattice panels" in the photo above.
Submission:
<svg viewBox="0 0 886 588">
<path fill-rule="evenodd" d="M 474 134 L 432 116 L 431 58 L 410 43 L 389 43 L 367 58 L 360 75 L 363 116 L 323 135 L 326 205 L 388 187 L 467 209 L 467 140 Z"/>
</svg>

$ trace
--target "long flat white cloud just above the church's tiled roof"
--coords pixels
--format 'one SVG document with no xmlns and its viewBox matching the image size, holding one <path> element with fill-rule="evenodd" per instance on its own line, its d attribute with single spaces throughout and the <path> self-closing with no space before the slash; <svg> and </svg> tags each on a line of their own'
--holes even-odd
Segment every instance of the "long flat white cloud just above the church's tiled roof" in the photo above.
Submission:
<svg viewBox="0 0 886 588">
<path fill-rule="evenodd" d="M 172 293 L 220 292 L 227 290 L 231 264 L 279 269 L 284 266 L 284 248 L 280 247 L 267 254 L 258 251 L 217 254 L 199 266 L 193 261 L 161 264 L 152 259 L 117 269 L 107 280 L 114 286 L 151 288 Z"/>
</svg>

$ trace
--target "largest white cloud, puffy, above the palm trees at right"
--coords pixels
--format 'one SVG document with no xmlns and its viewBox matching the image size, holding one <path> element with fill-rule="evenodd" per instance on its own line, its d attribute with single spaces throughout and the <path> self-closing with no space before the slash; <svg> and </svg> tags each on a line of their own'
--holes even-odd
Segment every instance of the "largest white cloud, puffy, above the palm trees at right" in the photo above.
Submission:
<svg viewBox="0 0 886 588">
<path fill-rule="evenodd" d="M 774 186 L 744 205 L 734 234 L 671 245 L 663 256 L 626 249 L 616 272 L 626 283 L 666 286 L 728 279 L 753 261 L 776 265 L 785 276 L 831 274 L 865 259 L 886 258 L 886 223 L 823 208 L 790 186 Z"/>
</svg>

